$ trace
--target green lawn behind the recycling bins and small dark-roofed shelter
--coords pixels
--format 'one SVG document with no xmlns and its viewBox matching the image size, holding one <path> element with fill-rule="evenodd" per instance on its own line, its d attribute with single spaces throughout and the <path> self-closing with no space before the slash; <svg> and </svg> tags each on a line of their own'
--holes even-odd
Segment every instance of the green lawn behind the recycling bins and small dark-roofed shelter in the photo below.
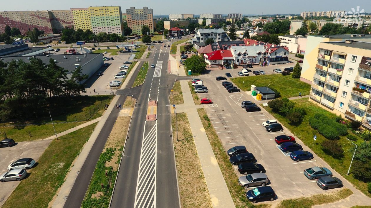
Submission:
<svg viewBox="0 0 371 208">
<path fill-rule="evenodd" d="M 282 98 L 297 97 L 299 92 L 302 95 L 309 95 L 311 85 L 302 82 L 299 79 L 294 79 L 282 74 L 259 75 L 259 76 L 244 76 L 231 79 L 241 90 L 250 91 L 251 85 L 267 86 L 275 88 L 280 92 Z"/>
</svg>

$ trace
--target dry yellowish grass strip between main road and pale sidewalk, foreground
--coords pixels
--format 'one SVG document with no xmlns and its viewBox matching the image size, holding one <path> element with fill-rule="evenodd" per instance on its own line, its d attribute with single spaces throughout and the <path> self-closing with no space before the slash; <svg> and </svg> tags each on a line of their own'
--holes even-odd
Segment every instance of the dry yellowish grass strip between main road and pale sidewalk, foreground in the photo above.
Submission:
<svg viewBox="0 0 371 208">
<path fill-rule="evenodd" d="M 181 207 L 212 207 L 187 113 L 178 113 L 177 117 L 179 141 L 176 139 L 174 114 L 171 117 L 171 125 L 174 129 L 173 141 Z"/>
</svg>

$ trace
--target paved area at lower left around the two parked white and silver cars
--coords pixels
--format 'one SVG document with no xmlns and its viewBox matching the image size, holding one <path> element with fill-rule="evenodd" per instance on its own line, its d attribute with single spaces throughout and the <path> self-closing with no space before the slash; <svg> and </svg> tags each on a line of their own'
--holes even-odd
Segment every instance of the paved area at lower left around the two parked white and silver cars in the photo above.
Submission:
<svg viewBox="0 0 371 208">
<path fill-rule="evenodd" d="M 0 148 L 0 174 L 7 172 L 6 169 L 10 163 L 20 158 L 33 158 L 36 161 L 49 146 L 52 140 L 24 141 L 13 145 L 12 147 Z M 32 174 L 32 169 L 27 174 Z M 27 180 L 27 176 L 26 179 Z M 0 207 L 7 200 L 9 195 L 14 191 L 21 181 L 6 181 L 0 183 Z"/>
</svg>

